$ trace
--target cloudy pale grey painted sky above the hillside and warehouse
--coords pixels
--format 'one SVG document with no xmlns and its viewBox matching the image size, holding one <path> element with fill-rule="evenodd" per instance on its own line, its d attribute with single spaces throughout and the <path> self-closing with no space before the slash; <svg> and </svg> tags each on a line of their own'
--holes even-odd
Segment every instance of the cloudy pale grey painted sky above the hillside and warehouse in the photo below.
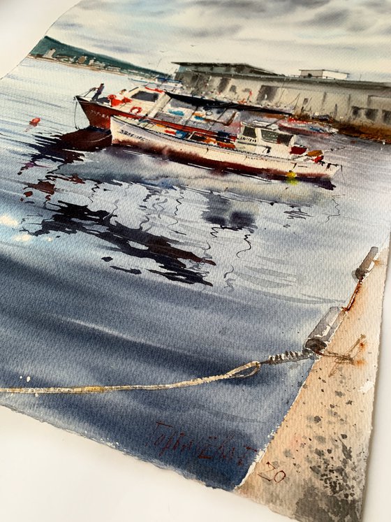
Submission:
<svg viewBox="0 0 391 522">
<path fill-rule="evenodd" d="M 391 0 L 83 0 L 48 34 L 169 72 L 233 61 L 391 80 Z"/>
</svg>

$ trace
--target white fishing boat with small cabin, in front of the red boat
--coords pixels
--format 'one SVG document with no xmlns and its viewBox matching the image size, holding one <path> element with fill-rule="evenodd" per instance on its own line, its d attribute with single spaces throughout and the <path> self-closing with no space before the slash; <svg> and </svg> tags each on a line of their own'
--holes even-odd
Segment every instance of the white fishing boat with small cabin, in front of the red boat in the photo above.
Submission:
<svg viewBox="0 0 391 522">
<path fill-rule="evenodd" d="M 321 150 L 295 145 L 292 134 L 244 122 L 239 133 L 232 134 L 112 116 L 110 130 L 114 145 L 131 145 L 219 171 L 330 180 L 340 168 L 324 161 Z"/>
</svg>

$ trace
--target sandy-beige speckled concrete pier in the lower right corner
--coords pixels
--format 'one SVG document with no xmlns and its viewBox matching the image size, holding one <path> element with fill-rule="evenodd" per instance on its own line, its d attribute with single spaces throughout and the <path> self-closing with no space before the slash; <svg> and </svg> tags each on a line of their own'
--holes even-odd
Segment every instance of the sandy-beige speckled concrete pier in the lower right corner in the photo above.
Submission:
<svg viewBox="0 0 391 522">
<path fill-rule="evenodd" d="M 303 522 L 360 521 L 387 256 L 375 259 L 239 495 Z"/>
</svg>

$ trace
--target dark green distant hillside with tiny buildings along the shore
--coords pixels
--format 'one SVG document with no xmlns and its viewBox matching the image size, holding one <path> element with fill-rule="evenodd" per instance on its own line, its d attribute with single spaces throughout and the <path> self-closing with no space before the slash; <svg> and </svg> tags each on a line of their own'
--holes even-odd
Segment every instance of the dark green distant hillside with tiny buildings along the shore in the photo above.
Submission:
<svg viewBox="0 0 391 522">
<path fill-rule="evenodd" d="M 30 56 L 62 61 L 68 64 L 89 66 L 91 68 L 101 68 L 106 71 L 114 71 L 117 73 L 140 75 L 145 76 L 146 78 L 168 76 L 160 71 L 139 67 L 130 64 L 127 61 L 117 60 L 110 56 L 100 55 L 96 52 L 73 47 L 73 45 L 54 40 L 54 38 L 50 38 L 50 36 L 42 38 L 34 49 L 31 50 Z"/>
</svg>

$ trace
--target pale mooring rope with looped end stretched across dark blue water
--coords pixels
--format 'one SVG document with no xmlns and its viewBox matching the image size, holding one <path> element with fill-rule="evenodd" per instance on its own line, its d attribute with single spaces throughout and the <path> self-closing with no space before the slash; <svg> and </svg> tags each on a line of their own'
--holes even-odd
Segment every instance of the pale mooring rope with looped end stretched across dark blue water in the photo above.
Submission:
<svg viewBox="0 0 391 522">
<path fill-rule="evenodd" d="M 108 391 L 131 391 L 131 390 L 169 390 L 172 388 L 186 388 L 188 386 L 198 386 L 208 382 L 221 381 L 223 379 L 244 379 L 252 377 L 259 372 L 262 363 L 251 361 L 222 375 L 212 375 L 209 377 L 198 377 L 189 381 L 172 382 L 171 384 L 119 384 L 117 386 L 53 386 L 47 388 L 0 388 L 0 393 L 24 393 L 24 394 L 45 394 L 45 393 L 106 393 Z M 251 370 L 247 372 L 247 370 Z"/>
</svg>

